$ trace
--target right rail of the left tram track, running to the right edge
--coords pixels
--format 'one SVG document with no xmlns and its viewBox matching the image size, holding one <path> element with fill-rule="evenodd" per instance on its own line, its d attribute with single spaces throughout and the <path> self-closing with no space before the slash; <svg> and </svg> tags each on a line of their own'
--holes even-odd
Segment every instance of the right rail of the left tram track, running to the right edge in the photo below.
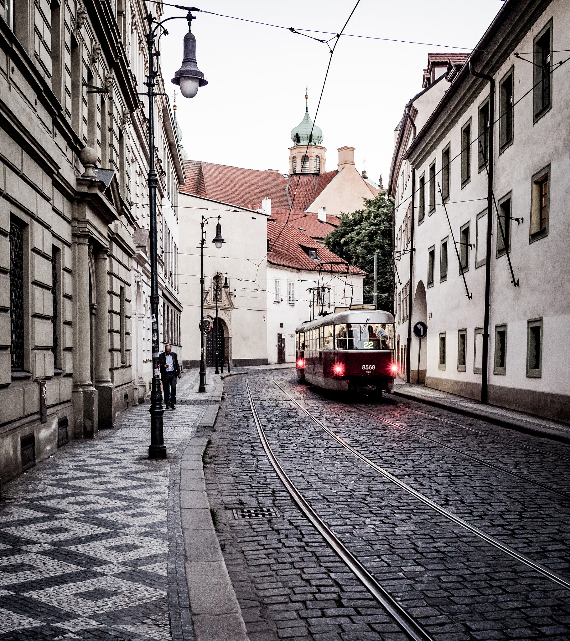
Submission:
<svg viewBox="0 0 570 641">
<path fill-rule="evenodd" d="M 535 570 L 535 572 L 538 572 L 542 576 L 548 578 L 550 581 L 553 581 L 554 583 L 557 583 L 561 587 L 566 588 L 566 590 L 570 590 L 570 581 L 568 579 L 556 574 L 556 572 L 553 572 L 552 570 L 549 570 L 544 565 L 541 565 L 541 563 L 537 563 L 532 559 L 528 558 L 527 556 L 525 556 L 524 554 L 517 552 L 515 549 L 513 549 L 509 545 L 503 543 L 502 541 L 500 541 L 495 537 L 492 537 L 491 535 L 487 534 L 483 530 L 476 528 L 475 526 L 467 522 L 465 519 L 462 519 L 461 517 L 454 514 L 453 512 L 449 512 L 449 510 L 446 510 L 446 508 L 440 506 L 438 503 L 435 503 L 435 501 L 432 501 L 432 499 L 428 498 L 426 495 L 410 487 L 409 485 L 407 485 L 407 483 L 404 483 L 404 481 L 401 481 L 401 479 L 399 479 L 397 476 L 394 476 L 394 474 L 391 474 L 388 470 L 385 470 L 382 467 L 380 467 L 380 465 L 377 465 L 376 463 L 374 463 L 372 460 L 367 458 L 367 456 L 359 452 L 355 447 L 352 447 L 352 445 L 349 445 L 342 437 L 337 435 L 335 431 L 328 428 L 328 426 L 326 426 L 321 420 L 317 419 L 317 417 L 315 417 L 309 410 L 307 410 L 305 406 L 303 406 L 303 404 L 299 403 L 299 401 L 297 401 L 291 394 L 289 394 L 289 392 L 287 392 L 285 388 L 281 387 L 281 385 L 275 380 L 275 377 L 272 377 L 271 381 L 276 387 L 280 388 L 283 394 L 287 395 L 291 399 L 291 401 L 293 401 L 293 403 L 295 403 L 321 429 L 323 429 L 328 435 L 330 435 L 330 437 L 334 438 L 340 445 L 342 445 L 342 447 L 347 449 L 351 454 L 356 456 L 356 458 L 358 458 L 361 462 L 365 463 L 365 465 L 367 465 L 374 471 L 378 472 L 378 474 L 381 474 L 381 476 L 388 479 L 389 481 L 394 483 L 394 485 L 397 485 L 399 488 L 401 488 L 408 494 L 411 494 L 416 499 L 426 504 L 428 507 L 432 508 L 432 510 L 439 513 L 446 519 L 466 529 L 467 531 L 476 535 L 476 537 L 485 541 L 487 544 L 492 545 L 496 549 L 499 549 L 501 552 L 508 554 L 508 556 L 516 559 L 520 563 L 523 563 L 523 565 L 530 567 L 532 570 Z M 249 394 L 249 385 L 247 386 L 247 389 Z M 253 412 L 254 411 L 253 401 L 250 400 L 250 403 L 252 404 L 252 412 Z M 259 427 L 258 427 L 258 430 L 259 430 Z"/>
</svg>

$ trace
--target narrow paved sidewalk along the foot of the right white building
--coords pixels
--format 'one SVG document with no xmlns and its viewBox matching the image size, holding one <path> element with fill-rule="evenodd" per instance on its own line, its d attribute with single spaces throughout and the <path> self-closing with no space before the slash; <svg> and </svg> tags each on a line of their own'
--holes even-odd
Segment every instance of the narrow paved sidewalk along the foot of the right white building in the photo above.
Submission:
<svg viewBox="0 0 570 641">
<path fill-rule="evenodd" d="M 398 379 L 394 384 L 394 394 L 472 418 L 487 420 L 505 428 L 570 443 L 570 425 L 555 420 L 509 410 L 497 405 L 483 404 L 480 401 L 426 387 L 422 383 L 403 383 Z"/>
</svg>

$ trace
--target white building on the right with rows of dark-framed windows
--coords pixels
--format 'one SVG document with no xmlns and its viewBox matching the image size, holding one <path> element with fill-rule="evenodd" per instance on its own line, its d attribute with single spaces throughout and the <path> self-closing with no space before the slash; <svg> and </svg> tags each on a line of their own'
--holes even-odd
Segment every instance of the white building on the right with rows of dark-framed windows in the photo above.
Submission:
<svg viewBox="0 0 570 641">
<path fill-rule="evenodd" d="M 410 295 L 412 322 L 428 324 L 426 385 L 483 399 L 486 387 L 489 403 L 566 421 L 570 67 L 555 52 L 569 31 L 564 0 L 507 0 L 403 156 L 416 177 Z"/>
</svg>

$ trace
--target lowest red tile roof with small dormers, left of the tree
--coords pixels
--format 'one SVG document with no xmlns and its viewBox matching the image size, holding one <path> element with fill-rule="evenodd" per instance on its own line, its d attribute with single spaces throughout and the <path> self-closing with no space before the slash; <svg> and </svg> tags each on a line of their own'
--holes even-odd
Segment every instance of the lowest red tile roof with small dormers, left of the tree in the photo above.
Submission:
<svg viewBox="0 0 570 641">
<path fill-rule="evenodd" d="M 317 256 L 321 260 L 309 258 L 303 247 L 316 249 Z M 267 221 L 267 249 L 267 262 L 271 265 L 306 271 L 319 271 L 319 269 L 322 269 L 324 272 L 335 272 L 337 274 L 346 273 L 347 271 L 347 263 L 342 258 L 337 254 L 333 254 L 326 247 L 319 245 L 292 225 Z M 358 267 L 349 267 L 349 272 L 354 276 L 366 276 L 366 272 L 358 269 Z"/>
</svg>

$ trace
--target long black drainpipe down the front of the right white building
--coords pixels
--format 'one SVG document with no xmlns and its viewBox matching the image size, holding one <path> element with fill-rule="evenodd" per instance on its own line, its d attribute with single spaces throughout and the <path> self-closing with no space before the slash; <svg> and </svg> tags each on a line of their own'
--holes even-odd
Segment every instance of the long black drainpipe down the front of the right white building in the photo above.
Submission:
<svg viewBox="0 0 570 641">
<path fill-rule="evenodd" d="M 493 143 L 494 143 L 494 120 L 495 120 L 495 79 L 488 74 L 480 74 L 473 71 L 471 60 L 469 60 L 469 72 L 475 78 L 482 78 L 489 81 L 489 190 L 487 192 L 487 255 L 485 263 L 485 320 L 483 321 L 483 362 L 481 378 L 481 402 L 489 402 L 487 388 L 487 374 L 489 370 L 489 311 L 490 311 L 490 283 L 491 283 L 491 233 L 493 221 Z"/>
</svg>

